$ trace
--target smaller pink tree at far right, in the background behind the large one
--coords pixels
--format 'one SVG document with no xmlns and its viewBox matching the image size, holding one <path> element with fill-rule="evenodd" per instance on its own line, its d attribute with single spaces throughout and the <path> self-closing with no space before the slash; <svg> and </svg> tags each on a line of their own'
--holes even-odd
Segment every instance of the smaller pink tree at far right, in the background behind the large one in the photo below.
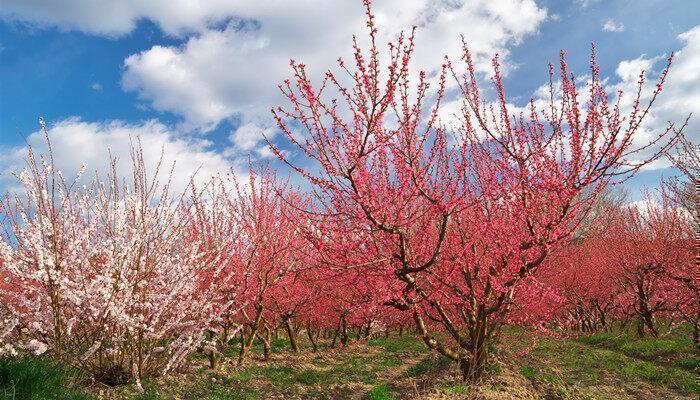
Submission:
<svg viewBox="0 0 700 400">
<path fill-rule="evenodd" d="M 604 240 L 598 241 L 596 251 L 609 259 L 607 273 L 621 289 L 622 307 L 639 320 L 640 337 L 645 330 L 658 336 L 657 315 L 672 315 L 681 307 L 687 310 L 685 301 L 697 301 L 696 296 L 686 297 L 688 292 L 674 277 L 677 271 L 697 272 L 689 228 L 690 221 L 681 209 L 667 200 L 656 204 L 647 199 L 645 209 L 620 209 Z"/>
</svg>

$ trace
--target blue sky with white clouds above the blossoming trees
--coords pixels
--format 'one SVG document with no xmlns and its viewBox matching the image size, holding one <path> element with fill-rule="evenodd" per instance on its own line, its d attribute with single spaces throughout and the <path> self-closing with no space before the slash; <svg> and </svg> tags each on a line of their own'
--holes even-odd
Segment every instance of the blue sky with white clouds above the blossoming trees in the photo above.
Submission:
<svg viewBox="0 0 700 400">
<path fill-rule="evenodd" d="M 675 52 L 644 128 L 651 135 L 694 113 L 687 134 L 700 138 L 696 0 L 377 0 L 374 10 L 383 42 L 418 27 L 414 66 L 428 73 L 459 56 L 460 35 L 484 79 L 498 53 L 520 106 L 538 98 L 560 50 L 585 78 L 595 42 L 606 85 L 627 93 L 642 69 L 653 78 Z M 321 77 L 364 33 L 363 12 L 360 0 L 3 0 L 0 192 L 16 184 L 10 172 L 27 144 L 45 148 L 39 116 L 68 176 L 83 162 L 106 168 L 108 149 L 128 159 L 135 137 L 148 162 L 177 160 L 176 187 L 194 171 L 206 179 L 244 173 L 248 160 L 275 164 L 263 133 L 281 141 L 270 108 L 284 104 L 277 85 L 289 60 Z M 676 173 L 665 162 L 646 168 L 626 183 L 630 200 Z"/>
</svg>

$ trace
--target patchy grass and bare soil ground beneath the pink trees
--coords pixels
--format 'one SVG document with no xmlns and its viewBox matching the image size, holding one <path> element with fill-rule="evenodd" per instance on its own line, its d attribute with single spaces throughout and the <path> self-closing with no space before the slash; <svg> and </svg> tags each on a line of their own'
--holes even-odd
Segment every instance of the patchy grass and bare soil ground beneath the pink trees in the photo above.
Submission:
<svg viewBox="0 0 700 400">
<path fill-rule="evenodd" d="M 682 329 L 660 339 L 540 337 L 522 353 L 531 343 L 529 334 L 506 330 L 478 388 L 460 382 L 452 363 L 405 334 L 317 353 L 304 346 L 299 354 L 279 339 L 271 360 L 263 360 L 258 347 L 249 365 L 225 363 L 218 371 L 198 355 L 189 371 L 146 381 L 139 396 L 133 386 L 83 383 L 79 389 L 110 400 L 700 398 L 700 352 Z"/>
</svg>

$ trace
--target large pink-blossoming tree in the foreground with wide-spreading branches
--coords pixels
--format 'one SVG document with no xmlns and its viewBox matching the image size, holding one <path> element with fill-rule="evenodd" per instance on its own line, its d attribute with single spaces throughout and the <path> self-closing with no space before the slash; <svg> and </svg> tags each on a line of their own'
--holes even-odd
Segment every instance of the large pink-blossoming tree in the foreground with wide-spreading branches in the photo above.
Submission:
<svg viewBox="0 0 700 400">
<path fill-rule="evenodd" d="M 467 72 L 447 60 L 435 83 L 411 72 L 413 33 L 380 56 L 369 3 L 369 47 L 354 40 L 354 65 L 340 59 L 340 74 L 329 71 L 314 85 L 306 66 L 292 61 L 293 78 L 280 86 L 288 106 L 272 112 L 313 166 L 272 147 L 313 184 L 332 225 L 356 239 L 355 264 L 368 274 L 390 271 L 400 283 L 384 303 L 411 313 L 426 345 L 478 382 L 500 326 L 517 322 L 510 313 L 518 291 L 536 287 L 530 276 L 569 241 L 606 185 L 673 144 L 672 125 L 650 142 L 637 140 L 667 70 L 649 104 L 636 93 L 623 113 L 594 57 L 584 101 L 562 54 L 560 85 L 550 67 L 547 105 L 533 101 L 513 113 L 498 57 L 496 98 L 487 102 L 466 46 Z M 462 104 L 450 130 L 438 121 L 449 76 Z M 643 81 L 642 74 L 640 88 Z"/>
</svg>

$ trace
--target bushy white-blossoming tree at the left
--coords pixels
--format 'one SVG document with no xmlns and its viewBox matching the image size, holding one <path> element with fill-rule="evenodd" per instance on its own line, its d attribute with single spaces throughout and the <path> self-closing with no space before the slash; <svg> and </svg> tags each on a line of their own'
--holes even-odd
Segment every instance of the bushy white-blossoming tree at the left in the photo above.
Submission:
<svg viewBox="0 0 700 400">
<path fill-rule="evenodd" d="M 0 206 L 4 351 L 50 352 L 99 381 L 140 387 L 181 366 L 221 310 L 236 308 L 235 290 L 219 287 L 235 286 L 228 236 L 186 234 L 215 216 L 192 212 L 206 209 L 205 197 L 171 196 L 138 145 L 132 161 L 131 179 L 113 161 L 106 180 L 83 186 L 85 168 L 66 179 L 50 143 L 47 157 L 29 150 L 23 190 Z"/>
</svg>

